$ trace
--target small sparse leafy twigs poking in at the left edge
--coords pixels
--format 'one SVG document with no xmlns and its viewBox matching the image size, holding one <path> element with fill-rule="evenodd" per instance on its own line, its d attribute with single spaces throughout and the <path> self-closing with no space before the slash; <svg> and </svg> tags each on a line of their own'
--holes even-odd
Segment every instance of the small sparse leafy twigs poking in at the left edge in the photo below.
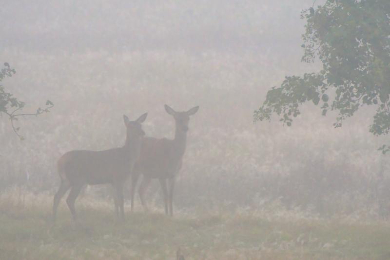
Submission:
<svg viewBox="0 0 390 260">
<path fill-rule="evenodd" d="M 11 68 L 10 65 L 5 62 L 4 68 L 0 71 L 0 82 L 6 77 L 12 77 L 15 73 L 15 69 Z M 39 114 L 49 112 L 49 109 L 53 106 L 53 103 L 50 100 L 47 100 L 46 107 L 43 109 L 39 107 L 35 113 L 18 113 L 23 109 L 24 102 L 19 101 L 11 93 L 7 92 L 2 85 L 0 85 L 0 113 L 4 113 L 9 117 L 12 129 L 21 140 L 23 140 L 23 137 L 19 134 L 20 128 L 14 125 L 14 121 L 18 120 L 18 117 L 38 116 Z"/>
</svg>

